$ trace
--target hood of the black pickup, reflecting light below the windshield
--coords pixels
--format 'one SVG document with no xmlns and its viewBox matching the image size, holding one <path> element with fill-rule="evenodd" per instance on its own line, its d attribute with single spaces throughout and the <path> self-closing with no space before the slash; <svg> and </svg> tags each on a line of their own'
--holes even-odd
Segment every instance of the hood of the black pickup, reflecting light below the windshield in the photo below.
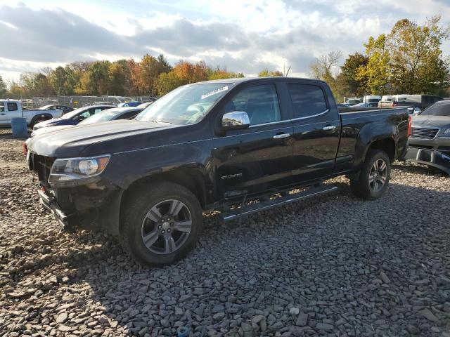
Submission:
<svg viewBox="0 0 450 337">
<path fill-rule="evenodd" d="M 134 120 L 105 121 L 38 134 L 31 138 L 27 147 L 30 152 L 41 156 L 77 157 L 87 147 L 103 147 L 106 143 L 115 143 L 114 148 L 120 150 L 136 143 L 137 140 L 132 138 L 141 140 L 142 134 L 174 127 L 179 126 Z"/>
</svg>

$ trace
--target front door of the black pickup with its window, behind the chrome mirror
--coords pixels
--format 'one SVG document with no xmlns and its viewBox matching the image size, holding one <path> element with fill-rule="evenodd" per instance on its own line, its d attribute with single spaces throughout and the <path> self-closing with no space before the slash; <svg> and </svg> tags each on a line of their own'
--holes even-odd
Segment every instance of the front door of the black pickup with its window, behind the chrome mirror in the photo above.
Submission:
<svg viewBox="0 0 450 337">
<path fill-rule="evenodd" d="M 232 111 L 247 112 L 250 127 L 214 138 L 218 197 L 263 192 L 288 183 L 293 126 L 279 104 L 276 85 L 241 89 L 219 117 Z"/>
</svg>

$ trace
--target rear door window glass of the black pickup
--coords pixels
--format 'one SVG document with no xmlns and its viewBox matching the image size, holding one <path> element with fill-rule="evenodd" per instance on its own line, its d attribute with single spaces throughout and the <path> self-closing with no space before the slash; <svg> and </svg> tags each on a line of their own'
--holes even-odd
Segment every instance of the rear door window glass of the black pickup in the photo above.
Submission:
<svg viewBox="0 0 450 337">
<path fill-rule="evenodd" d="M 309 117 L 327 110 L 325 95 L 320 86 L 311 84 L 289 84 L 294 118 Z"/>
</svg>

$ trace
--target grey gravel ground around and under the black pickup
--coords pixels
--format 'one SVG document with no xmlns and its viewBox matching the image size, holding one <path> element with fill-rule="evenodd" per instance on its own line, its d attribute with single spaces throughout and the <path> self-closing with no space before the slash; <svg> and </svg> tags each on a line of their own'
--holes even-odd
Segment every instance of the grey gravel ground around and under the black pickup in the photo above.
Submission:
<svg viewBox="0 0 450 337">
<path fill-rule="evenodd" d="M 450 336 L 450 179 L 396 163 L 385 196 L 339 192 L 223 225 L 175 265 L 61 234 L 0 131 L 0 336 Z"/>
</svg>

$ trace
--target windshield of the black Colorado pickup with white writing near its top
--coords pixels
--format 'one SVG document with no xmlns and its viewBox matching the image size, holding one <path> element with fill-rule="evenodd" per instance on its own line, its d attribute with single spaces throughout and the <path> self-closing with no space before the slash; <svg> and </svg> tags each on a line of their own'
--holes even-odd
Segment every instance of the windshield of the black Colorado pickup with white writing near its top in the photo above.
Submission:
<svg viewBox="0 0 450 337">
<path fill-rule="evenodd" d="M 138 121 L 177 125 L 198 123 L 212 105 L 231 89 L 231 83 L 188 84 L 167 93 L 136 116 Z"/>
</svg>

